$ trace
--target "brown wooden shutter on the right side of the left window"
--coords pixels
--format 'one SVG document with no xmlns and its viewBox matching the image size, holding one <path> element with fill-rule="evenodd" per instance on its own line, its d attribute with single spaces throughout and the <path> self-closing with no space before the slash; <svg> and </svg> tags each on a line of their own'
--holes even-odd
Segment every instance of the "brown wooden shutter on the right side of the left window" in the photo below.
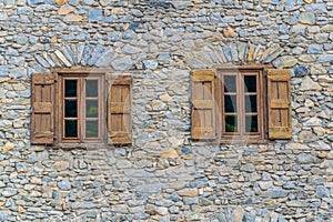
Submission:
<svg viewBox="0 0 333 222">
<path fill-rule="evenodd" d="M 132 143 L 132 78 L 109 77 L 108 143 Z"/>
</svg>

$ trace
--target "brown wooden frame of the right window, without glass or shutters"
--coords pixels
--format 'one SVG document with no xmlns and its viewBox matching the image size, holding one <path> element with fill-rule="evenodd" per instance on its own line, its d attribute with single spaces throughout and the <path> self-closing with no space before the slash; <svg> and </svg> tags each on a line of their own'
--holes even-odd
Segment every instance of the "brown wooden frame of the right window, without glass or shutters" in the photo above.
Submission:
<svg viewBox="0 0 333 222">
<path fill-rule="evenodd" d="M 240 117 L 238 121 L 238 129 L 239 133 L 230 133 L 230 132 L 224 132 L 224 84 L 223 84 L 223 75 L 226 74 L 235 74 L 236 79 L 236 103 L 238 110 L 236 115 Z M 243 77 L 245 73 L 251 73 L 251 72 L 258 72 L 256 75 L 256 95 L 258 95 L 258 133 L 251 133 L 251 132 L 245 132 L 244 125 L 245 125 L 245 111 L 244 111 L 244 84 Z M 218 119 L 220 120 L 220 124 L 218 128 L 218 135 L 219 135 L 219 141 L 220 143 L 266 143 L 266 100 L 265 100 L 265 94 L 266 94 L 266 83 L 265 83 L 265 68 L 263 67 L 222 67 L 222 68 L 216 68 L 215 69 L 215 101 L 216 101 L 216 115 L 219 117 Z M 251 75 L 251 74 L 250 74 Z M 241 125 L 243 125 L 241 128 Z"/>
</svg>

